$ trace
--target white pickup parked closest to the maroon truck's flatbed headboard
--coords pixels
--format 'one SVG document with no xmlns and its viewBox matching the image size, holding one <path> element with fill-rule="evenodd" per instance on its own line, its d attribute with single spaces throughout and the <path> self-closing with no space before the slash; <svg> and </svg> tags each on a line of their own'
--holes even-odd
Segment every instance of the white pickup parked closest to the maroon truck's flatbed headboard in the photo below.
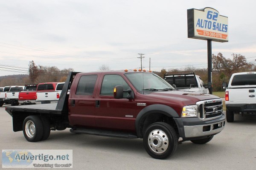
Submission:
<svg viewBox="0 0 256 170">
<path fill-rule="evenodd" d="M 38 91 L 36 93 L 36 104 L 46 104 L 46 103 L 57 103 L 58 99 L 61 95 L 61 90 L 64 86 L 65 82 L 59 82 L 59 83 L 47 83 L 48 90 L 40 90 L 40 87 L 38 88 Z M 52 84 L 52 86 L 51 86 Z M 40 86 L 46 85 L 46 84 L 39 84 Z M 53 90 L 52 90 L 53 88 Z"/>
</svg>

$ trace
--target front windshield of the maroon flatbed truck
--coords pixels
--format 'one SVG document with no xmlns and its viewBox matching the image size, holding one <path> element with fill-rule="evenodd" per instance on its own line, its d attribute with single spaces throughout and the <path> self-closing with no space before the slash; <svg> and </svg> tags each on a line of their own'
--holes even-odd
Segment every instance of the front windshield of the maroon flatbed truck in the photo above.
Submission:
<svg viewBox="0 0 256 170">
<path fill-rule="evenodd" d="M 168 82 L 156 74 L 151 73 L 127 73 L 125 76 L 130 80 L 132 85 L 139 91 L 169 91 L 174 88 Z"/>
</svg>

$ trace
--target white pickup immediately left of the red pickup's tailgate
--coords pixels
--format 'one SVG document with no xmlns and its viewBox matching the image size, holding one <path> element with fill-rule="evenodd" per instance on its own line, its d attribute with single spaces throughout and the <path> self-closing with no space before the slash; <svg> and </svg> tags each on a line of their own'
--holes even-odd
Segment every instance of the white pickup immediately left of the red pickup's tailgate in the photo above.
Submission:
<svg viewBox="0 0 256 170">
<path fill-rule="evenodd" d="M 9 102 L 12 106 L 19 105 L 19 93 L 23 91 L 24 86 L 11 86 L 9 91 L 6 91 L 6 102 Z"/>
</svg>

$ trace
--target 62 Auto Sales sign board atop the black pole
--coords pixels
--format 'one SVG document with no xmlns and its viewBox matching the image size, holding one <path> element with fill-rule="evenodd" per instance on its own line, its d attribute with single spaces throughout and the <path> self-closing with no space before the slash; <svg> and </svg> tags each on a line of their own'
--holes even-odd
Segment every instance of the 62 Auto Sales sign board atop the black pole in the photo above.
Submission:
<svg viewBox="0 0 256 170">
<path fill-rule="evenodd" d="M 228 18 L 213 8 L 188 9 L 188 38 L 228 42 Z"/>
</svg>

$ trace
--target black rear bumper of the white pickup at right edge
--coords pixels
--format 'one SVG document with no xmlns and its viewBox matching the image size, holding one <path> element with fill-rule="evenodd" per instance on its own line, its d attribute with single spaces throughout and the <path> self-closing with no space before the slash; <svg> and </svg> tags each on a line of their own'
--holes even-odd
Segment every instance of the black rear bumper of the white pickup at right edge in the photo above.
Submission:
<svg viewBox="0 0 256 170">
<path fill-rule="evenodd" d="M 226 104 L 226 108 L 232 112 L 256 112 L 256 104 Z"/>
</svg>

